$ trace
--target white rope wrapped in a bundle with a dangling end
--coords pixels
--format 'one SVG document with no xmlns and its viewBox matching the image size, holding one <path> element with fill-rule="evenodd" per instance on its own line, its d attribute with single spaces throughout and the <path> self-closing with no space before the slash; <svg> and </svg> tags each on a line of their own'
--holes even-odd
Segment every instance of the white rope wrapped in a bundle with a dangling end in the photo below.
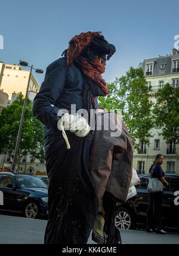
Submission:
<svg viewBox="0 0 179 256">
<path fill-rule="evenodd" d="M 88 125 L 87 120 L 78 114 L 69 115 L 69 113 L 65 113 L 60 121 L 59 128 L 66 141 L 67 149 L 70 149 L 70 143 L 65 130 L 74 132 L 78 137 L 85 137 L 90 132 L 90 125 Z"/>
</svg>

